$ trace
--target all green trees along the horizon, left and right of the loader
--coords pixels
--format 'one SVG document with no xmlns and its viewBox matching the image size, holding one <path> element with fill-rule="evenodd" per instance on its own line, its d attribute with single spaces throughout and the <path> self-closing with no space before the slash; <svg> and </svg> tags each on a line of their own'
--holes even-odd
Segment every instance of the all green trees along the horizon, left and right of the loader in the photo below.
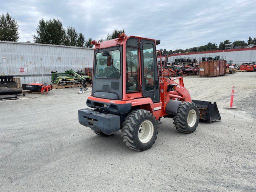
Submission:
<svg viewBox="0 0 256 192">
<path fill-rule="evenodd" d="M 105 39 L 100 39 L 100 41 L 110 40 L 118 38 L 118 34 L 125 33 L 125 30 L 115 29 L 112 33 L 108 33 Z M 1 14 L 0 16 L 0 40 L 2 41 L 18 41 L 20 38 L 18 33 L 18 22 L 10 16 L 10 14 Z M 41 44 L 54 44 L 54 45 L 66 45 L 66 46 L 79 46 L 79 47 L 92 47 L 92 38 L 87 40 L 84 34 L 78 33 L 76 29 L 72 26 L 64 28 L 62 22 L 59 19 L 44 20 L 41 19 L 38 22 L 36 28 L 36 34 L 33 35 L 33 40 L 35 43 Z M 252 39 L 248 37 L 247 42 L 236 40 L 231 42 L 230 40 L 225 40 L 220 42 L 219 45 L 209 42 L 206 45 L 187 48 L 187 49 L 177 49 L 177 50 L 166 50 L 160 49 L 161 54 L 174 54 L 174 53 L 186 53 L 186 52 L 200 52 L 206 50 L 224 50 L 225 44 L 234 44 L 234 46 L 247 46 L 249 44 L 256 44 L 256 38 Z"/>
</svg>

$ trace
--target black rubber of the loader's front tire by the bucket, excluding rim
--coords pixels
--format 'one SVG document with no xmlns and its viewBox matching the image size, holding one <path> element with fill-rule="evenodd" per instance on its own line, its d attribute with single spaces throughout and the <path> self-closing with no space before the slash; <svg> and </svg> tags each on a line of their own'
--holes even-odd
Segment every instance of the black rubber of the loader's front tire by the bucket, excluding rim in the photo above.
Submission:
<svg viewBox="0 0 256 192">
<path fill-rule="evenodd" d="M 194 126 L 188 125 L 188 114 L 191 110 L 194 110 L 196 112 L 196 120 L 195 120 Z M 198 108 L 192 102 L 182 102 L 180 103 L 177 110 L 177 114 L 176 116 L 174 116 L 173 120 L 174 120 L 174 126 L 179 132 L 187 133 L 187 134 L 192 133 L 196 130 L 199 122 Z"/>
</svg>

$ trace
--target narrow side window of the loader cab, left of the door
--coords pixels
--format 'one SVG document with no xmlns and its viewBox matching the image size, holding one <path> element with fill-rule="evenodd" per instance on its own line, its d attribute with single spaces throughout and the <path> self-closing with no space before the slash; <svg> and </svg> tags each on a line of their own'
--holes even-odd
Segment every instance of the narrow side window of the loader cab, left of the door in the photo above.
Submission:
<svg viewBox="0 0 256 192">
<path fill-rule="evenodd" d="M 126 93 L 139 91 L 138 49 L 126 48 Z"/>
</svg>

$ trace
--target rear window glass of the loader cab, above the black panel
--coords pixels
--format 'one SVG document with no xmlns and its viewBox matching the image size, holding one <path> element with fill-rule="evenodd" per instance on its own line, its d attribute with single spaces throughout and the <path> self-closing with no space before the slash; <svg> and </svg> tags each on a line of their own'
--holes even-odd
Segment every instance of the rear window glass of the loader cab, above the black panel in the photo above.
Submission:
<svg viewBox="0 0 256 192">
<path fill-rule="evenodd" d="M 96 54 L 95 77 L 119 78 L 120 77 L 120 51 L 106 51 Z"/>
</svg>

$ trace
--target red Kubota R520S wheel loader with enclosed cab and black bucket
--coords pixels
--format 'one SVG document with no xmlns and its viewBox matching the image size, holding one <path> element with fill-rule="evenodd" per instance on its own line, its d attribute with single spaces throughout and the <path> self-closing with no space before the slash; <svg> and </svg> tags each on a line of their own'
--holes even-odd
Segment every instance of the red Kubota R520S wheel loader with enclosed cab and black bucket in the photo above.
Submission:
<svg viewBox="0 0 256 192">
<path fill-rule="evenodd" d="M 199 119 L 221 119 L 216 102 L 191 100 L 182 77 L 159 76 L 160 40 L 119 34 L 92 44 L 92 94 L 86 101 L 89 108 L 78 110 L 78 120 L 95 134 L 111 136 L 121 130 L 126 146 L 144 151 L 154 144 L 161 118 L 173 118 L 184 134 L 194 132 Z"/>
</svg>

